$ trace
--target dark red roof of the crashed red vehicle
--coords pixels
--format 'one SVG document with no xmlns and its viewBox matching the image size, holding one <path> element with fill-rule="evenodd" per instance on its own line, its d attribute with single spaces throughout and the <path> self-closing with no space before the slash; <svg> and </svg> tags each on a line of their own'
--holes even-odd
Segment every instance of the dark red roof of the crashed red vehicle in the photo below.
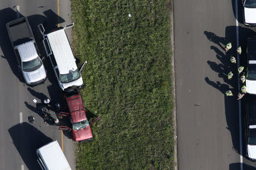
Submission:
<svg viewBox="0 0 256 170">
<path fill-rule="evenodd" d="M 87 119 L 84 103 L 82 103 L 82 98 L 80 94 L 65 96 L 65 99 L 68 103 L 69 112 L 74 123 Z"/>
</svg>

